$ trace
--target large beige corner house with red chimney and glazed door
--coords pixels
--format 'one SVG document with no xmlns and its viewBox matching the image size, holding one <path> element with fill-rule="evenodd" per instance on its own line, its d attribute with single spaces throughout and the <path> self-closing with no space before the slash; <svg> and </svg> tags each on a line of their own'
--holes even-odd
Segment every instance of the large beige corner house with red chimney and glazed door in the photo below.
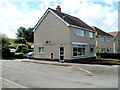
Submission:
<svg viewBox="0 0 120 90">
<path fill-rule="evenodd" d="M 34 27 L 34 58 L 75 60 L 95 57 L 95 31 L 74 16 L 48 8 Z"/>
</svg>

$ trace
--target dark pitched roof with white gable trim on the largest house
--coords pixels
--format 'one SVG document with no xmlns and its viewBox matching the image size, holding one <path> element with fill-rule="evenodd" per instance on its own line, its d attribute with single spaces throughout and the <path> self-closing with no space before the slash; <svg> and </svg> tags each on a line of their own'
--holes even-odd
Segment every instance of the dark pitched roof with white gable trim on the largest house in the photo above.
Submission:
<svg viewBox="0 0 120 90">
<path fill-rule="evenodd" d="M 82 20 L 80 20 L 79 18 L 76 18 L 74 16 L 62 13 L 60 11 L 54 10 L 52 8 L 48 8 L 47 11 L 50 10 L 52 11 L 55 15 L 57 15 L 62 21 L 64 21 L 65 23 L 67 23 L 68 25 L 74 25 L 77 27 L 82 27 L 85 29 L 90 29 L 92 31 L 94 31 L 94 29 L 92 27 L 90 27 L 89 25 L 87 25 L 85 22 L 83 22 Z M 46 12 L 47 12 L 46 11 Z M 42 16 L 42 18 L 45 15 Z M 38 24 L 40 24 L 40 20 L 38 21 L 38 23 L 35 25 L 35 28 L 38 26 Z"/>
</svg>

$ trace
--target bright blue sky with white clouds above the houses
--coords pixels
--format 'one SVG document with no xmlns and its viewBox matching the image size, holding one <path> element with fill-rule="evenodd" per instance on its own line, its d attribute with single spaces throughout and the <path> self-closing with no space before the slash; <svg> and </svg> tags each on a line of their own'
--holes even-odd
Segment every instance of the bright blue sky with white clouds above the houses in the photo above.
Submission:
<svg viewBox="0 0 120 90">
<path fill-rule="evenodd" d="M 118 30 L 119 0 L 0 0 L 0 33 L 16 38 L 17 29 L 34 27 L 48 7 L 78 17 L 105 32 Z"/>
</svg>

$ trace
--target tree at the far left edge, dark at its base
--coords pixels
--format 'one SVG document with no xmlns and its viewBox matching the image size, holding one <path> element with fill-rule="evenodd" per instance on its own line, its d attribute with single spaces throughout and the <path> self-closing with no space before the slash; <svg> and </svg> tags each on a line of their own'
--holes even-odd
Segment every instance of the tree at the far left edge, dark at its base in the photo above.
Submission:
<svg viewBox="0 0 120 90">
<path fill-rule="evenodd" d="M 0 37 L 2 38 L 2 57 L 9 56 L 10 55 L 9 39 L 4 34 L 1 34 Z"/>
</svg>

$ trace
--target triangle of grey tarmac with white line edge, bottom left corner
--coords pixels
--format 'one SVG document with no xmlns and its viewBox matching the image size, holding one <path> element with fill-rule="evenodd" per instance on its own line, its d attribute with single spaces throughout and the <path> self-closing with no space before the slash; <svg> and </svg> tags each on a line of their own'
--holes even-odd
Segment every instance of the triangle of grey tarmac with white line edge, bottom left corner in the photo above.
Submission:
<svg viewBox="0 0 120 90">
<path fill-rule="evenodd" d="M 21 84 L 15 83 L 13 81 L 10 81 L 8 79 L 5 79 L 3 77 L 0 77 L 0 81 L 2 81 L 2 84 L 5 85 L 7 88 L 27 88 Z M 2 87 L 4 88 L 4 87 Z"/>
</svg>

